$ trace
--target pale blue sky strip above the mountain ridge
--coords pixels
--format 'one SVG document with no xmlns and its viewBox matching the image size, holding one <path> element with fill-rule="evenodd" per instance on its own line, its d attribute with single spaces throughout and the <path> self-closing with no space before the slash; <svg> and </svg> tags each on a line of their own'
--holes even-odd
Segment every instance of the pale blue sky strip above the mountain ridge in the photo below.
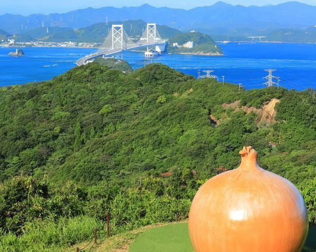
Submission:
<svg viewBox="0 0 316 252">
<path fill-rule="evenodd" d="M 64 13 L 71 10 L 86 7 L 104 7 L 104 6 L 139 6 L 144 3 L 156 7 L 172 7 L 191 9 L 197 6 L 212 5 L 218 0 L 0 0 L 0 15 L 5 13 L 28 15 L 33 13 Z M 288 0 L 223 0 L 231 4 L 266 5 L 278 4 Z M 316 0 L 298 0 L 311 5 L 316 5 Z"/>
</svg>

